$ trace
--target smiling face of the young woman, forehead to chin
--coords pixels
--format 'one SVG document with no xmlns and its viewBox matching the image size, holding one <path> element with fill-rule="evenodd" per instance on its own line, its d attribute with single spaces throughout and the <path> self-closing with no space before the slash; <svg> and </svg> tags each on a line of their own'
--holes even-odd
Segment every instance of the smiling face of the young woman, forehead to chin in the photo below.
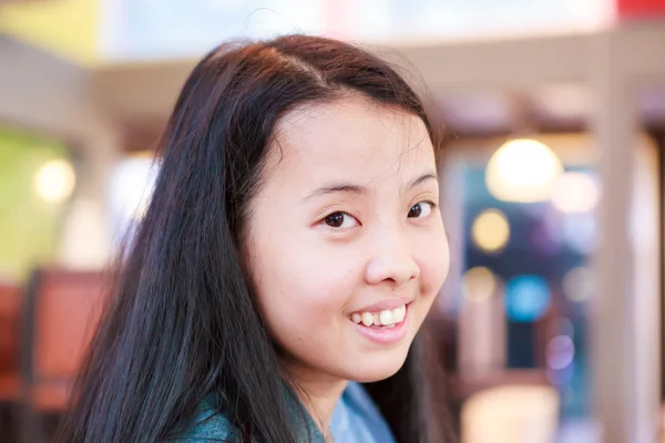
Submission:
<svg viewBox="0 0 665 443">
<path fill-rule="evenodd" d="M 424 124 L 349 97 L 276 134 L 245 244 L 262 315 L 294 372 L 386 379 L 449 267 Z"/>
</svg>

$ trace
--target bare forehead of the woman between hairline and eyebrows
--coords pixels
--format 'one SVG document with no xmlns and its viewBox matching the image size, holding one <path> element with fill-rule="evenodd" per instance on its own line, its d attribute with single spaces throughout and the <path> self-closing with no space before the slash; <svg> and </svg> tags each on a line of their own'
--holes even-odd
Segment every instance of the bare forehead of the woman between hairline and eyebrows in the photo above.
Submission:
<svg viewBox="0 0 665 443">
<path fill-rule="evenodd" d="M 418 116 L 361 97 L 286 115 L 273 153 L 273 173 L 291 178 L 380 179 L 434 168 L 433 146 Z"/>
</svg>

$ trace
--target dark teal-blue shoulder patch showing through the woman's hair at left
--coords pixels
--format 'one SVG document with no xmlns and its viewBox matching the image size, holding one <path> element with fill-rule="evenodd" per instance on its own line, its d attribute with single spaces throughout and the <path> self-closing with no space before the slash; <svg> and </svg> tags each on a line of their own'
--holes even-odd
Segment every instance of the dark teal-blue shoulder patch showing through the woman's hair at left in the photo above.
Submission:
<svg viewBox="0 0 665 443">
<path fill-rule="evenodd" d="M 167 443 L 235 443 L 236 433 L 231 421 L 209 401 L 204 400 L 194 415 L 187 430 L 178 437 L 167 440 Z"/>
</svg>

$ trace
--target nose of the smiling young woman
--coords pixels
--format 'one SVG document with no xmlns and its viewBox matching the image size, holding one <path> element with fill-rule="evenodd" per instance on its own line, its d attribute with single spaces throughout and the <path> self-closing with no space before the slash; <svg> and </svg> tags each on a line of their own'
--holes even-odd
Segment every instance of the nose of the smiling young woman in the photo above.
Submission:
<svg viewBox="0 0 665 443">
<path fill-rule="evenodd" d="M 372 253 L 365 269 L 365 279 L 369 285 L 387 282 L 396 289 L 420 277 L 413 250 L 399 229 L 383 229 L 372 243 L 369 247 Z"/>
</svg>

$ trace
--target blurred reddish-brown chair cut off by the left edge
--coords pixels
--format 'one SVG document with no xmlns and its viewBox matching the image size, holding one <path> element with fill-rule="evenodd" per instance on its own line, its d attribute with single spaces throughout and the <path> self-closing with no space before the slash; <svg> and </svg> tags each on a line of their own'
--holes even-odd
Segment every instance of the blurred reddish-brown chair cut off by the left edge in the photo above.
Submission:
<svg viewBox="0 0 665 443">
<path fill-rule="evenodd" d="M 21 288 L 0 282 L 0 437 L 9 439 L 16 426 L 20 399 Z M 0 439 L 0 440 L 2 440 Z"/>
</svg>

